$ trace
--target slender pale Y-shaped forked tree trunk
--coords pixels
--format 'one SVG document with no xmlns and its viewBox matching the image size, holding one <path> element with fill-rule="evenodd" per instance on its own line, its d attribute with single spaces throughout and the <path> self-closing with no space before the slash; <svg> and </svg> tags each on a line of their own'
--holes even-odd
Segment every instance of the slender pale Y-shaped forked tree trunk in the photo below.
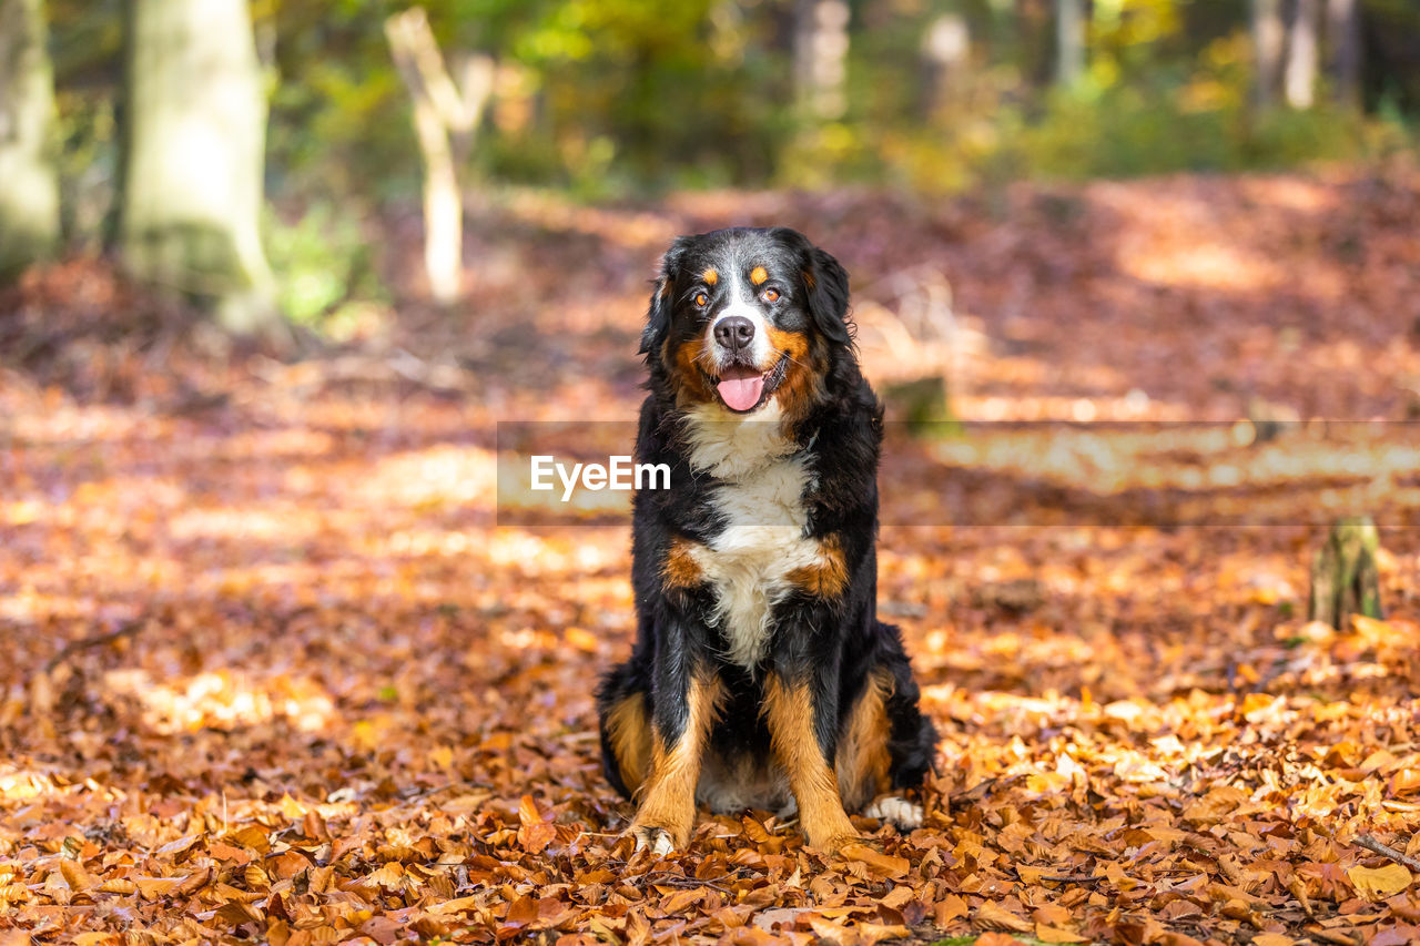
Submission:
<svg viewBox="0 0 1420 946">
<path fill-rule="evenodd" d="M 493 94 L 494 62 L 487 55 L 462 61 L 459 81 L 449 74 L 429 17 L 410 7 L 385 20 L 395 67 L 415 102 L 415 135 L 425 165 L 425 273 L 442 305 L 463 288 L 463 193 L 459 165 L 473 146 Z"/>
</svg>

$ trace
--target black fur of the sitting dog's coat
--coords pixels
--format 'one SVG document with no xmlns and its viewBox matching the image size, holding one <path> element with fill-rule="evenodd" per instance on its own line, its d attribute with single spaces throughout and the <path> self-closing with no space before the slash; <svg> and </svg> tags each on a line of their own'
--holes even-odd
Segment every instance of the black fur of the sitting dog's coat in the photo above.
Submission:
<svg viewBox="0 0 1420 946">
<path fill-rule="evenodd" d="M 726 659 L 724 631 L 713 618 L 714 587 L 669 587 L 666 580 L 673 541 L 709 547 L 727 527 L 726 511 L 717 506 L 724 482 L 692 466 L 686 425 L 694 403 L 687 403 L 686 391 L 693 379 L 677 376 L 683 366 L 670 352 L 707 331 L 728 304 L 721 298 L 730 291 L 728 276 L 751 261 L 767 268 L 767 286 L 778 293 L 772 303 L 755 303 L 765 322 L 807 344 L 807 354 L 785 368 L 812 375 L 797 376 L 797 391 L 811 395 L 794 405 L 784 425 L 809 472 L 801 496 L 805 538 L 836 543 L 846 584 L 838 595 L 787 592 L 771 611 L 763 660 L 740 666 Z M 706 270 L 726 276 L 706 287 Z M 697 291 L 713 297 L 707 308 L 694 304 Z M 829 764 L 851 707 L 873 675 L 886 675 L 892 682 L 886 700 L 892 785 L 916 787 L 933 766 L 937 733 L 919 710 L 917 683 L 900 634 L 876 616 L 882 405 L 858 366 L 843 267 L 802 234 L 782 227 L 680 237 L 665 256 L 642 337 L 649 396 L 640 411 L 636 455 L 639 462 L 669 464 L 670 489 L 640 491 L 635 499 L 636 642 L 630 659 L 608 672 L 596 693 L 604 768 L 626 797 L 633 787 L 622 780 L 608 714 L 623 699 L 639 699 L 656 737 L 672 746 L 684 732 L 686 693 L 696 673 L 716 675 L 724 683 L 726 702 L 707 749 L 720 760 L 748 757 L 768 766 L 770 733 L 763 713 L 768 673 L 808 683 L 814 732 Z M 788 384 L 781 393 L 788 392 Z"/>
</svg>

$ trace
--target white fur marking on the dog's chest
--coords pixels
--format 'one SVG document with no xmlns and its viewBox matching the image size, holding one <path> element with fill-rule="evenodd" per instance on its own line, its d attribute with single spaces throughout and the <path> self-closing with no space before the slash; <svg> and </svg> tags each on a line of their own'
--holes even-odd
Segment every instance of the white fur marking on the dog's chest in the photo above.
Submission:
<svg viewBox="0 0 1420 946">
<path fill-rule="evenodd" d="M 726 656 L 744 668 L 764 655 L 772 608 L 792 589 L 790 572 L 819 561 L 818 543 L 805 537 L 809 472 L 780 435 L 780 419 L 771 399 L 751 419 L 707 406 L 689 426 L 690 464 L 724 480 L 714 507 L 726 518 L 724 530 L 692 554 L 716 591 L 711 619 L 726 638 Z"/>
</svg>

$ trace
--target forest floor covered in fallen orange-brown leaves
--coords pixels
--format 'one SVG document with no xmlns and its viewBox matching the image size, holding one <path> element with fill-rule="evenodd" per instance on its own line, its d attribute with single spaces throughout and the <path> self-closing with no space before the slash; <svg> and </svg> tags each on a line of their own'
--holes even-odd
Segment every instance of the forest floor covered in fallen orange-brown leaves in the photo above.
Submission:
<svg viewBox="0 0 1420 946">
<path fill-rule="evenodd" d="M 304 361 L 31 277 L 0 300 L 0 939 L 1420 939 L 1416 220 L 1406 168 L 514 193 L 466 310 Z M 1054 422 L 889 452 L 879 598 L 940 773 L 924 827 L 842 859 L 770 812 L 632 857 L 591 696 L 628 527 L 496 523 L 496 423 L 633 418 L 657 254 L 728 222 L 845 263 L 872 378 Z M 1308 624 L 1358 506 L 1387 619 Z"/>
</svg>

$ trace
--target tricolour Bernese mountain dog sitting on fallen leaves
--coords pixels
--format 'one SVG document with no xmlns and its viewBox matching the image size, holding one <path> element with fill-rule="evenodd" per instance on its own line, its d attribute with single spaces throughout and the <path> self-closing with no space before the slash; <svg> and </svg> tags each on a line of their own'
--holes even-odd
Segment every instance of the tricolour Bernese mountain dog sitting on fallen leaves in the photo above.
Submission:
<svg viewBox="0 0 1420 946">
<path fill-rule="evenodd" d="M 684 848 L 696 804 L 795 810 L 808 844 L 848 811 L 917 827 L 937 732 L 876 615 L 882 405 L 848 274 L 785 227 L 674 241 L 650 298 L 633 503 L 636 643 L 596 692 L 602 764 L 636 849 Z"/>
</svg>

